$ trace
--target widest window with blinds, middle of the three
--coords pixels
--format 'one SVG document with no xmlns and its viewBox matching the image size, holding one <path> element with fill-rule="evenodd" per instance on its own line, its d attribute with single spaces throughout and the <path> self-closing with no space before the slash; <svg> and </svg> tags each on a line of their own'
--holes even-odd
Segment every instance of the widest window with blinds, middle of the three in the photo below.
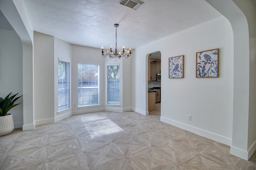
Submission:
<svg viewBox="0 0 256 170">
<path fill-rule="evenodd" d="M 78 64 L 78 106 L 99 104 L 99 65 Z"/>
</svg>

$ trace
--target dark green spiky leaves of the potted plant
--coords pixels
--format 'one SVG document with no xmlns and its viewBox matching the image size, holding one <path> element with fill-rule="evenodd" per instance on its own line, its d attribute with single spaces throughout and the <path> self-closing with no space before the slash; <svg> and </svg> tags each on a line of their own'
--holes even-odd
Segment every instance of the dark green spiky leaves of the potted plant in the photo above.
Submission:
<svg viewBox="0 0 256 170">
<path fill-rule="evenodd" d="M 11 94 L 12 92 L 10 92 Z M 4 99 L 1 97 L 0 98 L 0 116 L 5 116 L 7 114 L 7 112 L 12 108 L 12 107 L 15 107 L 17 105 L 19 105 L 20 103 L 18 104 L 14 104 L 14 102 L 16 100 L 18 100 L 18 98 L 20 98 L 21 96 L 15 98 L 15 96 L 17 96 L 17 94 L 10 96 L 10 94 L 8 94 Z"/>
</svg>

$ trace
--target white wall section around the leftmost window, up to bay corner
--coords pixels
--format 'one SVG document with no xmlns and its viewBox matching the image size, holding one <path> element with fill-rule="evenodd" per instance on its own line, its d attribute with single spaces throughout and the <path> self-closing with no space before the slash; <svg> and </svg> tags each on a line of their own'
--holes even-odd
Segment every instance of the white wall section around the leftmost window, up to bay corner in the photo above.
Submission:
<svg viewBox="0 0 256 170">
<path fill-rule="evenodd" d="M 71 67 L 72 45 L 34 32 L 34 51 L 35 125 L 53 123 L 72 115 L 71 108 L 58 113 L 58 58 Z"/>
</svg>

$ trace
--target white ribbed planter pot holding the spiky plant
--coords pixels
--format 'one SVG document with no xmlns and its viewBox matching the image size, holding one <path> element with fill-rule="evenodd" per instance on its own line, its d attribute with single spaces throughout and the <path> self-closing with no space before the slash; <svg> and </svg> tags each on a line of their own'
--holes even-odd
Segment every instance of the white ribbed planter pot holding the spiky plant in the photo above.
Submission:
<svg viewBox="0 0 256 170">
<path fill-rule="evenodd" d="M 0 136 L 8 135 L 14 129 L 12 114 L 0 116 Z"/>
</svg>

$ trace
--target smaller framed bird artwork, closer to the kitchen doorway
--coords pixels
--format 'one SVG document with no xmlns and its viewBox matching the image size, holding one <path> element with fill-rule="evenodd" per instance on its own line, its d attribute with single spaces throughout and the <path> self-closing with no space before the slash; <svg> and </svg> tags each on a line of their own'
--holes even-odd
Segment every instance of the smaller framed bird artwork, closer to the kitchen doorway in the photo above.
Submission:
<svg viewBox="0 0 256 170">
<path fill-rule="evenodd" d="M 184 55 L 169 58 L 169 78 L 183 78 Z"/>
</svg>

